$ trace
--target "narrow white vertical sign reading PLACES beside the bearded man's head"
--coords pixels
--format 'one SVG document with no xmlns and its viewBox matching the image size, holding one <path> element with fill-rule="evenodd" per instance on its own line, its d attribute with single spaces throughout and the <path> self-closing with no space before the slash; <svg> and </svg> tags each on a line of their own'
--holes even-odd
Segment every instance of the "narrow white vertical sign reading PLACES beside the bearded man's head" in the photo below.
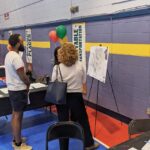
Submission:
<svg viewBox="0 0 150 150">
<path fill-rule="evenodd" d="M 26 61 L 32 63 L 32 34 L 31 29 L 25 30 L 26 36 Z"/>
</svg>

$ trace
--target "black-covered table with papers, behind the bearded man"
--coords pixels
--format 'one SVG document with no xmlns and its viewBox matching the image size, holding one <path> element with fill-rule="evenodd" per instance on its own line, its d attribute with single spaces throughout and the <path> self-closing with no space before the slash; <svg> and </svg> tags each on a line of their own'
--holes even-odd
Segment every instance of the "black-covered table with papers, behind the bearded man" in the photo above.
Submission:
<svg viewBox="0 0 150 150">
<path fill-rule="evenodd" d="M 45 102 L 44 97 L 47 87 L 33 88 L 30 90 L 30 104 L 27 105 L 26 110 L 36 109 L 44 106 L 50 106 L 51 103 Z M 25 111 L 26 111 L 25 110 Z M 0 91 L 0 116 L 11 114 L 11 104 L 9 95 Z"/>
</svg>

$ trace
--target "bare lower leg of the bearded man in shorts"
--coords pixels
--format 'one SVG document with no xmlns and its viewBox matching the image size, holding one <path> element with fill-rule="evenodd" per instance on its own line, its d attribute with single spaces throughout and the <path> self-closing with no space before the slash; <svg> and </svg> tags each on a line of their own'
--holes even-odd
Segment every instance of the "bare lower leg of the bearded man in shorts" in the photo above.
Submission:
<svg viewBox="0 0 150 150">
<path fill-rule="evenodd" d="M 16 143 L 21 142 L 22 117 L 23 117 L 22 111 L 21 112 L 13 111 L 11 125 L 12 125 L 13 136 Z"/>
</svg>

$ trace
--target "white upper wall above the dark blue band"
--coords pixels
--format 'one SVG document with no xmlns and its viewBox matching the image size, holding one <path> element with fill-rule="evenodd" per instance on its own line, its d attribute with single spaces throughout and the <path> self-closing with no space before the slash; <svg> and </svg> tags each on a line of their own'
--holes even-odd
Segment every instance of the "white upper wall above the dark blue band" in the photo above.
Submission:
<svg viewBox="0 0 150 150">
<path fill-rule="evenodd" d="M 60 20 L 113 14 L 128 9 L 148 7 L 149 0 L 0 0 L 0 29 L 52 23 Z M 70 8 L 78 6 L 72 14 Z M 9 12 L 9 19 L 4 14 Z"/>
</svg>

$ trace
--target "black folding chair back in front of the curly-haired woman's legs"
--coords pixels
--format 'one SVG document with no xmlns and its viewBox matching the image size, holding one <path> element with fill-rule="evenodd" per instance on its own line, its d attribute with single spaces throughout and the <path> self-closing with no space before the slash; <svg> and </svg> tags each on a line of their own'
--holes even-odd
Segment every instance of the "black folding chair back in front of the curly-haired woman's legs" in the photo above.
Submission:
<svg viewBox="0 0 150 150">
<path fill-rule="evenodd" d="M 82 127 L 72 121 L 57 122 L 51 125 L 46 135 L 46 150 L 48 150 L 48 142 L 55 139 L 74 138 L 82 141 L 84 150 L 84 132 Z"/>
</svg>

